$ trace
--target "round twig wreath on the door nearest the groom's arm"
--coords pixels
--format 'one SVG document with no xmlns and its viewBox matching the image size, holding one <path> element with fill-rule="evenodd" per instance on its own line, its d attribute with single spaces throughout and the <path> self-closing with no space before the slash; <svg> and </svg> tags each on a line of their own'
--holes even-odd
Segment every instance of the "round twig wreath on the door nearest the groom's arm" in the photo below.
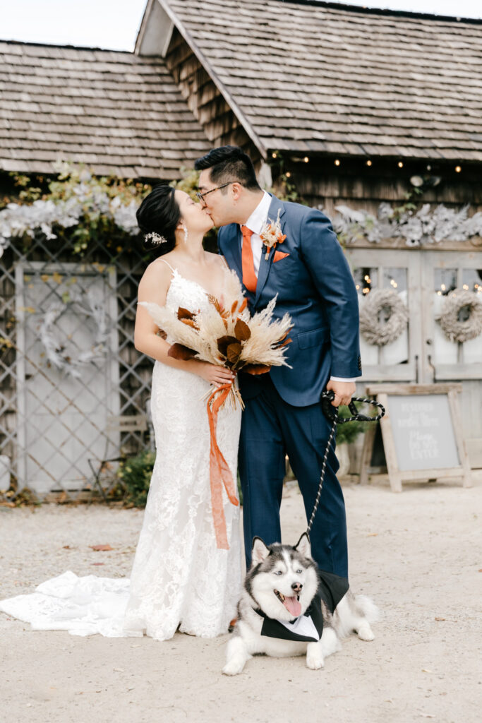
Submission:
<svg viewBox="0 0 482 723">
<path fill-rule="evenodd" d="M 360 331 L 373 346 L 385 346 L 405 331 L 408 309 L 396 291 L 376 288 L 366 295 L 360 308 Z"/>
</svg>

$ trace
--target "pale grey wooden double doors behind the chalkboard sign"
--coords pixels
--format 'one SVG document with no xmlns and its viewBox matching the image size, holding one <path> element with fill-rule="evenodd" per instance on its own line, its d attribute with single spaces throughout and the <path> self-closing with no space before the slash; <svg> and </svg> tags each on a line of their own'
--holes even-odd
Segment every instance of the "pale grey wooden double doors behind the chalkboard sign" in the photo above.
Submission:
<svg viewBox="0 0 482 723">
<path fill-rule="evenodd" d="M 450 291 L 482 299 L 482 253 L 466 250 L 348 249 L 358 299 L 375 288 L 392 288 L 408 307 L 407 328 L 378 347 L 361 335 L 362 392 L 368 382 L 462 382 L 463 434 L 472 467 L 482 466 L 482 335 L 449 341 L 437 317 Z"/>
</svg>

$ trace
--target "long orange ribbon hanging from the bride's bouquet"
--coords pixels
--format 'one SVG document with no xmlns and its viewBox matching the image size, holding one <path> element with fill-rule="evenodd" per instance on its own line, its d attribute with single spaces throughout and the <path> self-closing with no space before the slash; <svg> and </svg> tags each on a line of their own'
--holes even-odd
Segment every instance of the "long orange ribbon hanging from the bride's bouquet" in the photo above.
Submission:
<svg viewBox="0 0 482 723">
<path fill-rule="evenodd" d="M 223 453 L 218 447 L 216 440 L 216 424 L 218 423 L 218 411 L 228 398 L 231 390 L 231 384 L 224 384 L 215 389 L 210 398 L 207 400 L 207 419 L 209 420 L 211 432 L 211 448 L 210 448 L 210 482 L 211 482 L 211 505 L 212 519 L 214 521 L 214 529 L 216 534 L 216 544 L 218 549 L 229 549 L 228 536 L 226 534 L 226 520 L 224 516 L 223 505 L 223 486 L 228 495 L 228 500 L 235 505 L 239 505 L 236 496 L 236 488 L 234 487 L 233 475 L 228 467 L 228 463 L 223 457 Z"/>
</svg>

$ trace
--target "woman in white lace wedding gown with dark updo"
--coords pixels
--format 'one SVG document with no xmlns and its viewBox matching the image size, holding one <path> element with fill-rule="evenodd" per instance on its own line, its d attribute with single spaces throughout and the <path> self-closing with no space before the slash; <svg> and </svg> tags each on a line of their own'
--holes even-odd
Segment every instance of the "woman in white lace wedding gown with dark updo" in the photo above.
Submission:
<svg viewBox="0 0 482 723">
<path fill-rule="evenodd" d="M 227 266 L 202 247 L 210 215 L 188 194 L 159 185 L 137 211 L 141 230 L 158 249 L 139 284 L 139 301 L 173 310 L 202 309 L 223 297 Z M 219 549 L 212 518 L 210 429 L 205 395 L 236 383 L 229 369 L 168 356 L 147 310 L 137 307 L 134 344 L 155 359 L 151 410 L 156 461 L 130 582 L 72 572 L 35 593 L 0 601 L 0 609 L 34 629 L 78 635 L 172 638 L 176 630 L 212 638 L 225 633 L 241 589 L 239 507 L 223 497 L 228 549 Z M 217 439 L 236 480 L 241 409 L 218 416 Z M 234 484 L 236 487 L 236 484 Z M 223 492 L 223 495 L 225 493 Z M 234 500 L 236 502 L 237 500 Z"/>
</svg>

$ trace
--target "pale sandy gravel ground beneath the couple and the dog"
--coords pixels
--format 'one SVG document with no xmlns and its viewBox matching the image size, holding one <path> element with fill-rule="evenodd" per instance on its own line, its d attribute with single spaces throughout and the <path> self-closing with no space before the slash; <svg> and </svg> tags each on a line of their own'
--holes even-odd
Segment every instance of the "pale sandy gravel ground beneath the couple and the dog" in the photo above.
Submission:
<svg viewBox="0 0 482 723">
<path fill-rule="evenodd" d="M 482 479 L 344 485 L 350 582 L 383 612 L 376 640 L 352 637 L 311 671 L 303 658 L 257 657 L 220 675 L 227 636 L 79 638 L 35 632 L 0 613 L 3 723 L 438 723 L 481 720 Z M 283 541 L 306 525 L 294 487 Z M 0 596 L 74 570 L 129 575 L 139 510 L 0 508 Z M 90 545 L 110 544 L 111 552 Z"/>
</svg>

